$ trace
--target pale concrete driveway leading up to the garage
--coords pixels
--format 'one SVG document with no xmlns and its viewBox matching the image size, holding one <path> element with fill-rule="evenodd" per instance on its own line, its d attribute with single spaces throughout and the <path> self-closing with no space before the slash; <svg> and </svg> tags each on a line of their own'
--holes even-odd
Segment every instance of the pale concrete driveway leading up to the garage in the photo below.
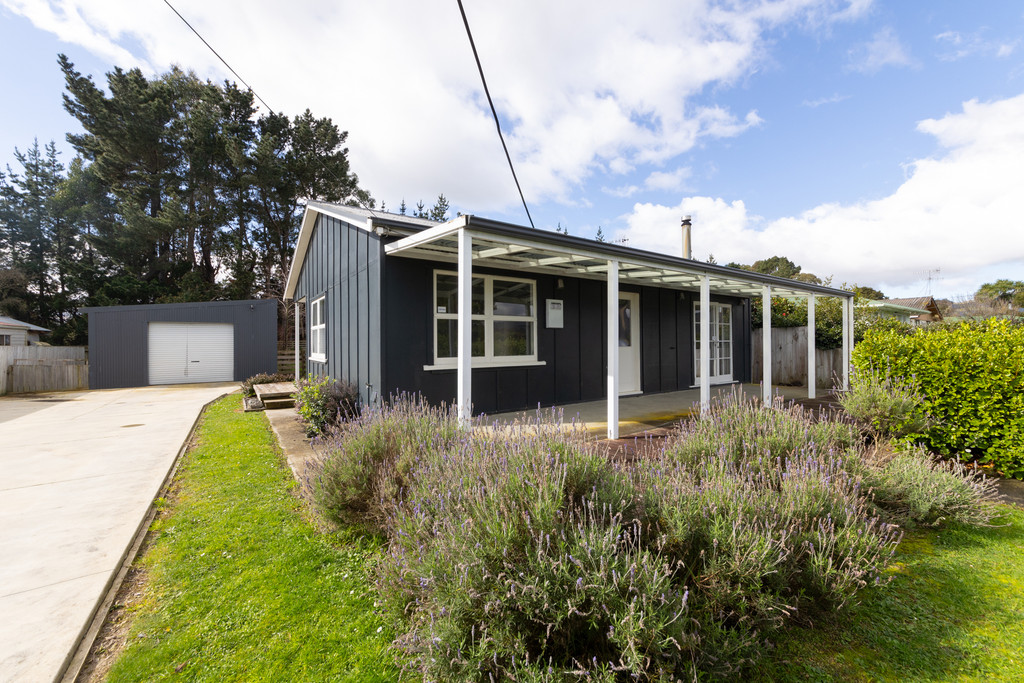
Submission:
<svg viewBox="0 0 1024 683">
<path fill-rule="evenodd" d="M 51 681 L 200 410 L 238 384 L 0 397 L 0 681 Z"/>
</svg>

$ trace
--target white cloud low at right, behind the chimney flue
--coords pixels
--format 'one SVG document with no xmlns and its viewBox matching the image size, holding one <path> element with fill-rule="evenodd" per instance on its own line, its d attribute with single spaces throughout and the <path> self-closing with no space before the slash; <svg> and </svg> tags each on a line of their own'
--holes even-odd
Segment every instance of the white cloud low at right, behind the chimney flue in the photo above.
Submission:
<svg viewBox="0 0 1024 683">
<path fill-rule="evenodd" d="M 851 205 L 823 204 L 799 216 L 766 221 L 742 202 L 688 197 L 676 206 L 637 204 L 614 237 L 630 245 L 679 254 L 669 229 L 693 215 L 693 254 L 752 263 L 787 256 L 836 283 L 881 286 L 889 294 L 921 293 L 929 270 L 944 285 L 973 292 L 992 274 L 1024 279 L 1021 179 L 1024 178 L 1024 94 L 918 124 L 940 154 L 911 165 L 890 196 Z M 668 237 L 667 237 L 668 236 Z M 940 292 L 936 291 L 936 294 Z"/>
</svg>

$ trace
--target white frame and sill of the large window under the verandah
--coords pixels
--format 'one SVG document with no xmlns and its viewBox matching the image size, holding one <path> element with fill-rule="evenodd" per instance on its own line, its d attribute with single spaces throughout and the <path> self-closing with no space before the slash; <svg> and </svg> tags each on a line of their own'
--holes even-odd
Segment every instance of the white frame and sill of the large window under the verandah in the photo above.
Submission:
<svg viewBox="0 0 1024 683">
<path fill-rule="evenodd" d="M 431 335 L 433 337 L 433 350 L 434 350 L 434 364 L 431 366 L 424 366 L 424 370 L 450 370 L 457 367 L 456 357 L 442 358 L 437 355 L 437 322 L 438 321 L 458 321 L 458 313 L 438 312 L 437 311 L 437 276 L 438 275 L 451 275 L 453 278 L 458 278 L 459 273 L 455 270 L 434 270 L 433 274 L 433 296 L 430 300 L 430 307 L 433 310 L 433 315 L 431 316 L 431 327 L 433 328 Z M 486 367 L 516 367 L 516 366 L 544 366 L 547 365 L 544 360 L 537 359 L 537 328 L 538 328 L 538 315 L 537 315 L 537 281 L 529 280 L 527 278 L 514 278 L 512 275 L 485 275 L 483 273 L 473 273 L 473 280 L 483 281 L 483 314 L 473 314 L 471 315 L 471 321 L 482 321 L 483 322 L 483 355 L 472 357 L 473 368 L 486 368 Z M 529 285 L 529 298 L 530 298 L 530 314 L 529 315 L 498 315 L 494 312 L 495 310 L 495 287 L 494 283 L 496 280 L 510 283 L 524 283 Z M 495 355 L 495 323 L 529 323 L 530 329 L 534 331 L 534 339 L 531 348 L 534 352 L 529 355 Z"/>
</svg>

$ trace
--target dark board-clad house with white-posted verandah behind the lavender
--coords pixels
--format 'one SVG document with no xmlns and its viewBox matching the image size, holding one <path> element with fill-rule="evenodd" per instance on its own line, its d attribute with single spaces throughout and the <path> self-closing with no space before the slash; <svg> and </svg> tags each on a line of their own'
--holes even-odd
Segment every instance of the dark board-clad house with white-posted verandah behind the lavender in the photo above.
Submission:
<svg viewBox="0 0 1024 683">
<path fill-rule="evenodd" d="M 850 292 L 470 215 L 309 203 L 285 290 L 309 373 L 364 401 L 418 392 L 468 419 L 611 396 L 612 436 L 621 395 L 751 381 L 751 300 L 771 296 L 808 298 L 811 326 L 842 298 L 849 357 Z"/>
</svg>

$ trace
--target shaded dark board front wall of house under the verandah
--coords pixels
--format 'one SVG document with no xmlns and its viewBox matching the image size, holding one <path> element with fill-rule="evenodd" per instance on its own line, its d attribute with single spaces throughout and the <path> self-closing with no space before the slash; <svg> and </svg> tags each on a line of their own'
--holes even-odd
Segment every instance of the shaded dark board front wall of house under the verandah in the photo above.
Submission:
<svg viewBox="0 0 1024 683">
<path fill-rule="evenodd" d="M 434 365 L 434 270 L 451 263 L 391 257 L 381 264 L 384 313 L 382 326 L 383 395 L 422 394 L 432 403 L 451 403 L 456 392 L 454 369 Z M 538 360 L 542 366 L 475 368 L 473 412 L 495 413 L 549 407 L 605 397 L 607 368 L 605 299 L 607 285 L 548 274 L 474 268 L 474 273 L 508 274 L 537 282 Z M 622 288 L 639 292 L 641 311 L 641 378 L 645 393 L 678 391 L 693 386 L 693 303 L 696 293 L 652 287 Z M 563 327 L 549 329 L 547 299 L 563 302 Z M 714 297 L 732 304 L 735 378 L 750 377 L 750 306 L 744 299 Z"/>
</svg>

